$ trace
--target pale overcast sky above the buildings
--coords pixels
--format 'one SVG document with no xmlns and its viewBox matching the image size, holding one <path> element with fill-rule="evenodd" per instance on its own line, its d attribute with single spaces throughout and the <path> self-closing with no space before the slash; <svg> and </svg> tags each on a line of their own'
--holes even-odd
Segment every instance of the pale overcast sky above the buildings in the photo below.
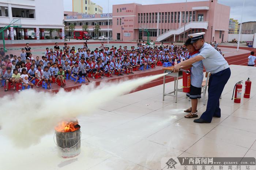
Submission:
<svg viewBox="0 0 256 170">
<path fill-rule="evenodd" d="M 72 0 L 63 0 L 64 10 L 72 11 Z M 176 3 L 185 2 L 186 0 L 161 0 L 161 3 Z M 204 0 L 188 0 L 191 1 L 204 1 Z M 93 0 L 94 3 L 100 5 L 103 8 L 103 13 L 108 13 L 108 0 Z M 104 2 L 104 3 L 102 3 Z M 128 4 L 138 3 L 142 5 L 156 4 L 156 0 L 109 0 L 109 13 L 112 12 L 112 5 L 115 4 Z M 157 1 L 158 3 L 158 1 Z M 230 6 L 230 18 L 237 19 L 240 23 L 243 0 L 218 0 L 218 3 Z M 244 14 L 242 22 L 256 21 L 256 0 L 245 0 Z"/>
</svg>

